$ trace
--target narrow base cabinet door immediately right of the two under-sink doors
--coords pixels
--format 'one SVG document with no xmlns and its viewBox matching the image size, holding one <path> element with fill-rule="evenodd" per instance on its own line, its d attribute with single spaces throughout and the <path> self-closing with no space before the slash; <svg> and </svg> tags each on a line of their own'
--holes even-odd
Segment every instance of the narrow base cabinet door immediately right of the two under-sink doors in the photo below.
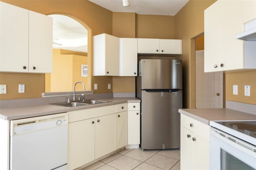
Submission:
<svg viewBox="0 0 256 170">
<path fill-rule="evenodd" d="M 127 111 L 116 113 L 116 149 L 128 143 Z"/>
</svg>

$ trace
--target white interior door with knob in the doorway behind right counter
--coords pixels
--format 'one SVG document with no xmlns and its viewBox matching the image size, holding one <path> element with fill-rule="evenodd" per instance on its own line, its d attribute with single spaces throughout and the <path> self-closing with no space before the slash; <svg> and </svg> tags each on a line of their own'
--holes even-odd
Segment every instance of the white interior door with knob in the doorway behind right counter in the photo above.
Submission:
<svg viewBox="0 0 256 170">
<path fill-rule="evenodd" d="M 196 51 L 196 108 L 223 107 L 223 72 L 204 73 L 204 50 Z"/>
</svg>

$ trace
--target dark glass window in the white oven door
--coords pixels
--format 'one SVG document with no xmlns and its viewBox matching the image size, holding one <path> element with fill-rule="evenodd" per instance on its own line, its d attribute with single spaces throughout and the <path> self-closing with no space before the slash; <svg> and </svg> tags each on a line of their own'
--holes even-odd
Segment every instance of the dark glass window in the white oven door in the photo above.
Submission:
<svg viewBox="0 0 256 170">
<path fill-rule="evenodd" d="M 223 149 L 220 149 L 220 167 L 221 170 L 255 170 Z"/>
</svg>

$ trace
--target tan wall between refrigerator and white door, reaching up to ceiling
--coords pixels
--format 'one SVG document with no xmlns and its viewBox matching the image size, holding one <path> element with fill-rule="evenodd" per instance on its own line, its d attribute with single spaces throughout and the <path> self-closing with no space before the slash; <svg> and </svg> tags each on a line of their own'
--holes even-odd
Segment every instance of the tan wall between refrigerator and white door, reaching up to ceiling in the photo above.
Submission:
<svg viewBox="0 0 256 170">
<path fill-rule="evenodd" d="M 204 10 L 216 0 L 190 0 L 175 16 L 175 38 L 182 39 L 183 107 L 196 107 L 195 38 L 204 32 Z"/>
</svg>

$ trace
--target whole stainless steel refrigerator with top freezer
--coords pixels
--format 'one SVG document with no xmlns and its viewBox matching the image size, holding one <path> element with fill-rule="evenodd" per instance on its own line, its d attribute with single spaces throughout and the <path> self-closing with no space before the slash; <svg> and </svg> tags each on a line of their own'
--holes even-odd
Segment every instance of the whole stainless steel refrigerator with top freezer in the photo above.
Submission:
<svg viewBox="0 0 256 170">
<path fill-rule="evenodd" d="M 180 148 L 182 60 L 141 59 L 136 97 L 141 100 L 142 149 Z"/>
</svg>

